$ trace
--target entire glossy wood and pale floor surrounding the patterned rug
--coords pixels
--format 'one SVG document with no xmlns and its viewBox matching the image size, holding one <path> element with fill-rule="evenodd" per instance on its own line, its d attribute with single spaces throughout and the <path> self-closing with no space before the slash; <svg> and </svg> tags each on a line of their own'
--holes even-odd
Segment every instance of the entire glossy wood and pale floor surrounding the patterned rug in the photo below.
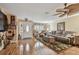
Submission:
<svg viewBox="0 0 79 59">
<path fill-rule="evenodd" d="M 17 44 L 9 44 L 0 51 L 0 55 L 58 55 L 39 41 L 32 39 L 19 40 Z M 78 47 L 61 51 L 59 55 L 79 55 Z"/>
</svg>

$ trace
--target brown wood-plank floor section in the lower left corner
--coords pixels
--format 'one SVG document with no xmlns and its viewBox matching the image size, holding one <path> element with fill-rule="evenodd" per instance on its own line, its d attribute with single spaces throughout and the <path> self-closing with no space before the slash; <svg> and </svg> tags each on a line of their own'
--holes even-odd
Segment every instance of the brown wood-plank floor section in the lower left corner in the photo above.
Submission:
<svg viewBox="0 0 79 59">
<path fill-rule="evenodd" d="M 17 55 L 18 49 L 16 44 L 9 44 L 5 49 L 0 51 L 0 55 Z"/>
</svg>

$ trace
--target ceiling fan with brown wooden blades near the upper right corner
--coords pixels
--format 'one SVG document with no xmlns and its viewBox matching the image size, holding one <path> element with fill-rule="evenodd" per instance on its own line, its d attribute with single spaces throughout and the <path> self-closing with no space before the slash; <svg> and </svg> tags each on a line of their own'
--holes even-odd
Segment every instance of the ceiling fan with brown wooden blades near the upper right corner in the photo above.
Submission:
<svg viewBox="0 0 79 59">
<path fill-rule="evenodd" d="M 54 15 L 59 15 L 59 17 L 63 17 L 65 15 L 67 16 L 72 15 L 77 11 L 79 11 L 79 3 L 71 4 L 71 5 L 64 3 L 64 6 L 65 6 L 64 8 L 56 9 L 57 14 Z"/>
</svg>

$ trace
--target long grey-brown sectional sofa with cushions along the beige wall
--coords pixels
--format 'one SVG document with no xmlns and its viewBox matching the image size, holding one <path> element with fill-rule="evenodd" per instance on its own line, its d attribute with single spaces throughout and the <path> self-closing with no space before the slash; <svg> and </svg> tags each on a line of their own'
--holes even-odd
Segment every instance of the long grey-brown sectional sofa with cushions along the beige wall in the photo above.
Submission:
<svg viewBox="0 0 79 59">
<path fill-rule="evenodd" d="M 74 34 L 72 31 L 52 31 L 52 32 L 42 32 L 39 34 L 39 37 L 42 37 L 44 41 L 49 42 L 48 36 L 55 37 L 55 41 L 65 43 L 65 44 L 74 44 Z"/>
</svg>

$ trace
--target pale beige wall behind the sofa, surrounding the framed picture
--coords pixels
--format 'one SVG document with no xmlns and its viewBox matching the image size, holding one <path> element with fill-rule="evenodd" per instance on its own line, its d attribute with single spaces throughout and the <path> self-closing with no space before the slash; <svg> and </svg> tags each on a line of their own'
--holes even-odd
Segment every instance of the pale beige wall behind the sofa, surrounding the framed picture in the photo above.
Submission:
<svg viewBox="0 0 79 59">
<path fill-rule="evenodd" d="M 55 20 L 52 23 L 52 30 L 57 30 L 57 23 L 58 22 L 65 22 L 65 30 L 66 31 L 75 31 L 79 32 L 79 15 L 65 18 L 65 19 L 60 19 L 60 20 Z"/>
</svg>

